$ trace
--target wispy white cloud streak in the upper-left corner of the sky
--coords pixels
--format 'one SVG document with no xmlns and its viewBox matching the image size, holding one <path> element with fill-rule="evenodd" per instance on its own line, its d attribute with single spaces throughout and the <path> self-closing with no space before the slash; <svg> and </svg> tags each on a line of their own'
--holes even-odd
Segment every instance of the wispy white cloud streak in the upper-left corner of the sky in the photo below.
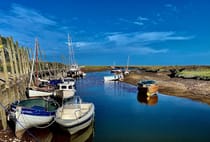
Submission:
<svg viewBox="0 0 210 142">
<path fill-rule="evenodd" d="M 5 28 L 11 28 L 12 33 L 23 32 L 31 36 L 32 32 L 39 33 L 38 30 L 43 30 L 43 28 L 57 26 L 56 21 L 18 4 L 13 4 L 9 12 L 1 12 L 0 16 L 0 22 L 5 25 Z"/>
</svg>

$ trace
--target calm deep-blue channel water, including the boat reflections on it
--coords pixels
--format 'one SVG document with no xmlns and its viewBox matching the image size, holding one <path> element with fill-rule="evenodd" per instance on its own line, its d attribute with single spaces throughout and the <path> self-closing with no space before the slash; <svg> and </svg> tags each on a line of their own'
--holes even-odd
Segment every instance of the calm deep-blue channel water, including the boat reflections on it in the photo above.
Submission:
<svg viewBox="0 0 210 142">
<path fill-rule="evenodd" d="M 55 127 L 48 141 L 210 142 L 209 105 L 162 94 L 147 104 L 136 86 L 104 83 L 105 75 L 89 73 L 76 84 L 77 95 L 95 104 L 93 126 L 73 136 Z"/>
</svg>

